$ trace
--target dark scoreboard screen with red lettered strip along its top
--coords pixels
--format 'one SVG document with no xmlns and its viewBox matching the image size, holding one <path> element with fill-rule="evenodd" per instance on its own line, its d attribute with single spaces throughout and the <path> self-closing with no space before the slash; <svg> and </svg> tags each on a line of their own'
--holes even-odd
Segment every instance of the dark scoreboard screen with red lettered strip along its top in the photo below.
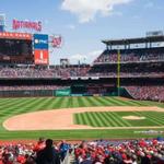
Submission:
<svg viewBox="0 0 164 164">
<path fill-rule="evenodd" d="M 0 33 L 1 63 L 33 63 L 32 35 L 26 33 Z"/>
</svg>

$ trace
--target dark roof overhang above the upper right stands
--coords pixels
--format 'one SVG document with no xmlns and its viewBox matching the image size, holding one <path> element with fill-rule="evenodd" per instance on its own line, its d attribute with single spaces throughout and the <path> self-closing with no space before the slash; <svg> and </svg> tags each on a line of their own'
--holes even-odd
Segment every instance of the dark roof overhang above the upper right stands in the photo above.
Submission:
<svg viewBox="0 0 164 164">
<path fill-rule="evenodd" d="M 104 39 L 102 40 L 106 45 L 129 45 L 129 44 L 144 44 L 144 43 L 160 43 L 164 42 L 164 35 L 162 36 L 150 36 L 139 38 L 126 38 L 126 39 Z"/>
</svg>

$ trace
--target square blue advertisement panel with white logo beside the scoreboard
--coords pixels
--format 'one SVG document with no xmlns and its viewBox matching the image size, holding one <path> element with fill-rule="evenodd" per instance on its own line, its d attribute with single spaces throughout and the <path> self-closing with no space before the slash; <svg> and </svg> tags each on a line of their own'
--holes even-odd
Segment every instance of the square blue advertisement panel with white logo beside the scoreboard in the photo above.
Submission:
<svg viewBox="0 0 164 164">
<path fill-rule="evenodd" d="M 48 35 L 34 34 L 34 49 L 48 49 Z"/>
</svg>

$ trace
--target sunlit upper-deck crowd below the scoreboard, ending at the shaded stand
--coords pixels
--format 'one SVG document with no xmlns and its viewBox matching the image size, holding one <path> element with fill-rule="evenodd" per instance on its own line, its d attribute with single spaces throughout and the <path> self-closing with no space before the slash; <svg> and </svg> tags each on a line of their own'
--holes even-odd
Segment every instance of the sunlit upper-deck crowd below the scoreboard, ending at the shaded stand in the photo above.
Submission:
<svg viewBox="0 0 164 164">
<path fill-rule="evenodd" d="M 70 66 L 54 68 L 11 68 L 1 67 L 0 78 L 70 78 L 85 77 L 89 66 Z"/>
</svg>

